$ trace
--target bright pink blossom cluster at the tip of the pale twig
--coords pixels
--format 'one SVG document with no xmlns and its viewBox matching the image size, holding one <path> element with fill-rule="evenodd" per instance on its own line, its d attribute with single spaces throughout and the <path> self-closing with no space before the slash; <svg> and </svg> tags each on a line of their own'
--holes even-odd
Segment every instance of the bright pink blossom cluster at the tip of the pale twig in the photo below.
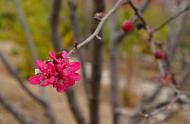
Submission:
<svg viewBox="0 0 190 124">
<path fill-rule="evenodd" d="M 76 72 L 80 69 L 80 62 L 69 62 L 68 54 L 62 51 L 59 54 L 49 53 L 50 61 L 36 61 L 37 73 L 28 80 L 31 84 L 48 86 L 52 85 L 58 92 L 64 92 L 80 80 Z"/>
</svg>

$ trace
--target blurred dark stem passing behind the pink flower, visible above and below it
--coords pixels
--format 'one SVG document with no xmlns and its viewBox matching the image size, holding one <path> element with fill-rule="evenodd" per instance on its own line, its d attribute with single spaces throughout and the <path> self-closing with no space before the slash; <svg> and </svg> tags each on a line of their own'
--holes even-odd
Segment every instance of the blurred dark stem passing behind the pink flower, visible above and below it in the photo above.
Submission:
<svg viewBox="0 0 190 124">
<path fill-rule="evenodd" d="M 59 24 L 59 14 L 60 14 L 60 8 L 61 8 L 61 2 L 62 0 L 54 0 L 53 6 L 52 6 L 52 14 L 51 14 L 51 29 L 52 29 L 52 45 L 56 52 L 59 52 L 62 50 L 61 46 L 61 40 L 59 40 L 59 34 L 58 34 L 58 24 Z M 77 122 L 77 124 L 85 124 L 84 116 L 80 110 L 78 101 L 76 99 L 76 94 L 73 88 L 69 88 L 66 91 L 66 96 L 68 99 L 69 107 L 72 111 L 72 114 L 74 115 L 74 118 Z"/>
</svg>

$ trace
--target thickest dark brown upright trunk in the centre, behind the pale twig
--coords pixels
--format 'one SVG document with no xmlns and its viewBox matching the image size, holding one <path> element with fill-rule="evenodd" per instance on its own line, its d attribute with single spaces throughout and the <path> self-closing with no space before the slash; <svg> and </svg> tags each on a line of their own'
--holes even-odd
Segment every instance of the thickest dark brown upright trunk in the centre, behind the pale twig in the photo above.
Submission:
<svg viewBox="0 0 190 124">
<path fill-rule="evenodd" d="M 96 13 L 104 12 L 105 3 L 104 0 L 93 0 L 93 14 L 92 18 Z M 93 33 L 97 28 L 99 20 L 92 19 L 91 32 Z M 98 36 L 102 37 L 102 33 Z M 99 97 L 100 97 L 100 80 L 102 72 L 102 47 L 103 41 L 97 38 L 93 39 L 92 43 L 92 76 L 91 76 L 91 92 L 90 98 L 90 124 L 99 124 Z"/>
</svg>

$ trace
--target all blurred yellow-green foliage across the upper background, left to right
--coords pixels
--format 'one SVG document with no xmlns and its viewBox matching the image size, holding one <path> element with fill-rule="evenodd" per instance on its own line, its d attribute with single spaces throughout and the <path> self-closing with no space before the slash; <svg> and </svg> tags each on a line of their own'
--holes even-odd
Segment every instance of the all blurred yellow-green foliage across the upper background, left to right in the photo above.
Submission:
<svg viewBox="0 0 190 124">
<path fill-rule="evenodd" d="M 86 37 L 86 32 L 89 31 L 89 15 L 87 15 L 86 8 L 83 7 L 83 0 L 78 0 L 78 11 L 77 16 L 80 20 L 81 35 L 84 39 Z M 48 51 L 52 50 L 51 38 L 50 38 L 50 26 L 49 18 L 51 14 L 51 4 L 52 0 L 20 0 L 21 6 L 24 10 L 26 21 L 29 25 L 32 37 L 37 48 L 37 53 L 40 59 L 47 58 Z M 145 19 L 148 23 L 155 27 L 165 20 L 165 15 L 163 14 L 163 9 L 157 6 L 151 6 L 145 12 Z M 156 15 L 156 16 L 155 16 Z M 126 19 L 130 19 L 133 16 L 133 12 L 128 7 L 122 7 L 118 18 L 118 29 L 122 22 Z M 190 21 L 186 24 L 187 35 L 185 37 L 185 42 L 183 47 L 190 50 Z M 73 33 L 71 31 L 71 24 L 69 19 L 69 8 L 67 1 L 63 0 L 63 6 L 61 10 L 59 30 L 61 32 L 61 38 L 63 43 L 63 48 L 68 49 L 69 46 L 73 44 Z M 88 33 L 89 34 L 89 33 Z M 166 41 L 168 36 L 168 27 L 163 28 L 157 33 L 156 38 L 160 41 Z M 105 52 L 109 51 L 109 27 L 108 25 L 104 28 L 104 39 L 105 39 Z M 137 47 L 142 51 L 142 53 L 150 53 L 149 47 L 145 41 L 146 33 L 143 31 L 137 31 L 135 28 L 128 35 L 124 42 L 122 42 L 120 52 L 127 54 L 129 57 L 133 56 L 133 48 Z M 0 1 L 0 41 L 12 41 L 16 42 L 21 46 L 20 51 L 13 51 L 23 56 L 23 63 L 17 65 L 19 71 L 27 77 L 31 72 L 32 63 L 31 56 L 28 52 L 28 47 L 26 45 L 26 39 L 24 36 L 23 29 L 18 20 L 15 6 L 12 0 L 1 0 Z"/>
</svg>

